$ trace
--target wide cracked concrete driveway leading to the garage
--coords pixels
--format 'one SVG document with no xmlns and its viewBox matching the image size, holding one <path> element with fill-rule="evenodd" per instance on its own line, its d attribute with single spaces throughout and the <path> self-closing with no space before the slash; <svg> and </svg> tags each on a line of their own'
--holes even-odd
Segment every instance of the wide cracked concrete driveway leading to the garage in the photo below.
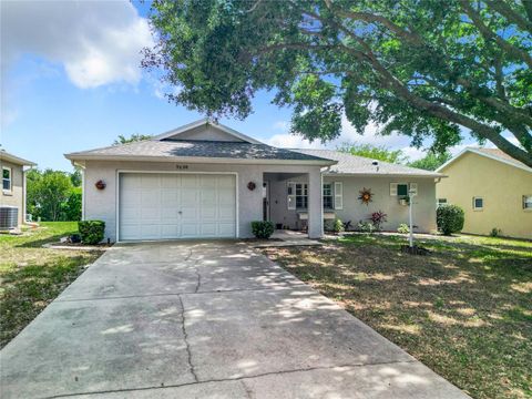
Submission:
<svg viewBox="0 0 532 399">
<path fill-rule="evenodd" d="M 1 397 L 460 398 L 244 244 L 119 245 L 1 352 Z"/>
</svg>

